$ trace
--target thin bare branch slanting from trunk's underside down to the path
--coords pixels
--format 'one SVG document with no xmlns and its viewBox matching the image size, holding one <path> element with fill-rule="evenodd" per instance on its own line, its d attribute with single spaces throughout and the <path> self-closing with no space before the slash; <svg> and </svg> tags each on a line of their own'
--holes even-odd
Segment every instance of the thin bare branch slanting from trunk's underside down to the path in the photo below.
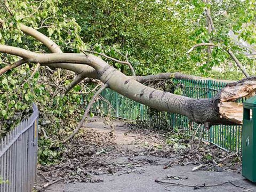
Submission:
<svg viewBox="0 0 256 192">
<path fill-rule="evenodd" d="M 91 101 L 88 103 L 86 109 L 85 109 L 85 112 L 84 112 L 84 115 L 83 115 L 83 118 L 81 120 L 81 122 L 79 122 L 79 124 L 77 125 L 75 131 L 67 138 L 63 141 L 63 143 L 69 141 L 71 138 L 74 137 L 74 135 L 81 129 L 81 127 L 83 126 L 83 123 L 85 121 L 85 118 L 87 117 L 87 114 L 89 113 L 89 110 L 93 104 L 93 102 L 95 101 L 95 99 L 99 96 L 99 94 L 105 90 L 106 88 L 108 87 L 108 84 L 104 84 L 100 87 L 100 89 L 93 95 Z"/>
</svg>

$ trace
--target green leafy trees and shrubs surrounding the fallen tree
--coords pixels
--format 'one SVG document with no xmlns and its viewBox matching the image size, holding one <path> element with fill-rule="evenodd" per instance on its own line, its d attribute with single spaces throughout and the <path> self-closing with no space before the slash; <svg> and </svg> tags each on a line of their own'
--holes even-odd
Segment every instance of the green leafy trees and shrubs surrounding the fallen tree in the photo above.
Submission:
<svg viewBox="0 0 256 192">
<path fill-rule="evenodd" d="M 206 7 L 211 9 L 213 33 L 208 33 L 205 27 Z M 127 53 L 137 75 L 182 71 L 241 79 L 243 74 L 223 49 L 233 50 L 250 74 L 255 71 L 254 60 L 244 55 L 248 50 L 238 46 L 228 35 L 232 30 L 243 41 L 255 44 L 254 0 L 211 1 L 210 4 L 201 0 L 12 0 L 1 1 L 0 15 L 0 19 L 5 20 L 0 26 L 1 44 L 48 53 L 42 43 L 22 33 L 20 25 L 23 23 L 49 36 L 65 52 L 92 49 L 120 60 L 124 57 L 118 52 Z M 219 47 L 213 47 L 211 55 L 207 47 L 197 47 L 186 54 L 191 46 L 204 42 L 213 42 Z M 0 67 L 17 59 L 1 54 Z M 109 63 L 131 75 L 127 66 Z M 58 75 L 59 71 L 47 67 L 35 69 L 36 66 L 27 64 L 0 77 L 0 137 L 26 118 L 31 113 L 31 103 L 36 102 L 41 125 L 39 162 L 49 164 L 61 156 L 59 141 L 69 135 L 81 119 L 87 103 L 81 93 L 91 94 L 88 88 L 91 85 L 83 82 L 65 95 L 64 87 L 71 82 L 72 73 L 60 70 Z M 170 84 L 164 86 L 164 91 L 182 92 L 176 85 L 174 89 Z"/>
</svg>

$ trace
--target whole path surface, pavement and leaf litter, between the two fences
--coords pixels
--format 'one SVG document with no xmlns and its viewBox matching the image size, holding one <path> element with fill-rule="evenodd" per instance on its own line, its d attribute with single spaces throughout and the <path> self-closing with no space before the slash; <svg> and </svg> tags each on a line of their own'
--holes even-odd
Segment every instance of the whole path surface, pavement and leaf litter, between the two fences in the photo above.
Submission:
<svg viewBox="0 0 256 192">
<path fill-rule="evenodd" d="M 53 192 L 256 190 L 242 177 L 239 157 L 228 155 L 196 137 L 93 117 L 69 143 L 58 165 L 39 167 L 36 188 Z"/>
</svg>

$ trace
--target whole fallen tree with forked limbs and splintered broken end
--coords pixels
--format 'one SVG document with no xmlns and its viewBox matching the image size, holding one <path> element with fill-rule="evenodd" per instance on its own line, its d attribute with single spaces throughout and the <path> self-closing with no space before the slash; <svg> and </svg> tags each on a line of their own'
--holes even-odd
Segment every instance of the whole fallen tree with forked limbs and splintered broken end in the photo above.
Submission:
<svg viewBox="0 0 256 192">
<path fill-rule="evenodd" d="M 3 23 L 4 21 L 0 20 L 0 22 Z M 74 71 L 77 75 L 74 81 L 66 87 L 67 91 L 71 90 L 84 78 L 99 79 L 105 85 L 103 86 L 104 88 L 109 87 L 127 98 L 159 111 L 170 111 L 171 113 L 187 116 L 191 121 L 203 123 L 206 126 L 242 124 L 242 104 L 235 103 L 235 101 L 255 94 L 256 77 L 247 77 L 238 82 L 223 81 L 229 84 L 211 99 L 193 99 L 163 92 L 142 83 L 155 79 L 171 79 L 173 77 L 194 80 L 205 78 L 180 73 L 165 73 L 145 77 L 126 76 L 93 54 L 88 54 L 85 51 L 82 51 L 83 53 L 63 53 L 57 44 L 37 30 L 23 25 L 21 25 L 20 29 L 27 35 L 33 36 L 39 42 L 42 42 L 53 53 L 35 53 L 19 47 L 0 45 L 1 53 L 16 55 L 21 58 L 21 60 L 12 65 L 1 69 L 0 75 L 27 62 L 37 65 L 39 63 L 40 66 L 48 66 L 50 68 L 66 69 Z M 130 65 L 129 67 L 131 68 Z M 82 124 L 79 123 L 76 130 L 79 130 Z"/>
</svg>

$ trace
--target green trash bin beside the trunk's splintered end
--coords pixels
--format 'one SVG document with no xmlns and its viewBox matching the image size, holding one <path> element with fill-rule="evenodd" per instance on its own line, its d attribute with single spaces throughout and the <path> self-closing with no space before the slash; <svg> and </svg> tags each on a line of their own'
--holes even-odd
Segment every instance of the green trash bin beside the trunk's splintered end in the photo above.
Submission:
<svg viewBox="0 0 256 192">
<path fill-rule="evenodd" d="M 256 182 L 256 96 L 244 102 L 242 128 L 242 175 Z"/>
</svg>

